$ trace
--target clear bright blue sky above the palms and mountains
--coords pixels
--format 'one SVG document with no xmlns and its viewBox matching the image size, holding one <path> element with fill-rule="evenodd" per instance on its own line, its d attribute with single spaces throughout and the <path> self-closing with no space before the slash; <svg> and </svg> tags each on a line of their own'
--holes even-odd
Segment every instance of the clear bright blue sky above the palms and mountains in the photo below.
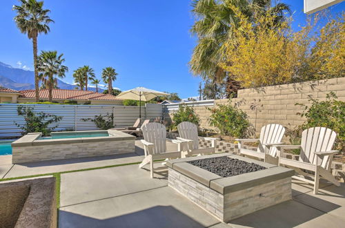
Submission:
<svg viewBox="0 0 345 228">
<path fill-rule="evenodd" d="M 285 0 L 295 11 L 294 27 L 303 24 L 303 0 Z M 32 43 L 17 29 L 12 6 L 17 0 L 0 1 L 0 61 L 33 69 Z M 90 65 L 97 77 L 106 66 L 116 68 L 114 86 L 127 90 L 144 86 L 158 91 L 197 95 L 199 77 L 189 72 L 195 46 L 191 0 L 45 0 L 51 10 L 48 35 L 39 36 L 39 50 L 63 53 L 70 69 L 63 81 L 72 83 L 72 72 Z M 331 8 L 344 10 L 345 3 Z"/>
</svg>

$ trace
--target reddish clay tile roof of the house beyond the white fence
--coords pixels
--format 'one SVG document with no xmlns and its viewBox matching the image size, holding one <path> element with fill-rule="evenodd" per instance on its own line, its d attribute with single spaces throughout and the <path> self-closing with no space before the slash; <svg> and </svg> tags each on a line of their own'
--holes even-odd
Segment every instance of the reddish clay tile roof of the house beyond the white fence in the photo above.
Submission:
<svg viewBox="0 0 345 228">
<path fill-rule="evenodd" d="M 24 98 L 35 97 L 34 90 L 20 91 L 20 93 L 23 93 Z M 41 99 L 48 99 L 48 93 L 49 93 L 48 89 L 40 89 L 39 97 Z M 98 100 L 117 100 L 117 101 L 121 100 L 109 94 L 96 93 L 92 91 L 59 89 L 59 88 L 55 88 L 52 90 L 52 99 L 82 99 L 82 100 L 98 99 Z"/>
</svg>

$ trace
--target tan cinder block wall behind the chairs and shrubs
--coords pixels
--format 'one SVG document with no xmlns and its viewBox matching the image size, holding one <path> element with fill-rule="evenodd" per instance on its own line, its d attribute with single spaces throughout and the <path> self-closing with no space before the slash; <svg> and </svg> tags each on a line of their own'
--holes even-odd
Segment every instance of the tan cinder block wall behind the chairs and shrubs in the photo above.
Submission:
<svg viewBox="0 0 345 228">
<path fill-rule="evenodd" d="M 305 121 L 304 118 L 296 115 L 302 112 L 302 107 L 295 104 L 310 104 L 308 101 L 310 96 L 325 100 L 326 95 L 331 91 L 335 92 L 339 100 L 345 102 L 345 77 L 242 89 L 238 91 L 238 97 L 232 99 L 232 102 L 239 104 L 239 108 L 248 114 L 249 121 L 257 132 L 269 123 L 282 124 L 293 129 Z M 215 100 L 216 105 L 227 102 L 228 99 Z M 257 108 L 253 108 L 255 106 Z M 205 106 L 195 106 L 194 109 L 200 117 L 201 129 L 217 130 L 208 124 L 210 111 Z"/>
</svg>

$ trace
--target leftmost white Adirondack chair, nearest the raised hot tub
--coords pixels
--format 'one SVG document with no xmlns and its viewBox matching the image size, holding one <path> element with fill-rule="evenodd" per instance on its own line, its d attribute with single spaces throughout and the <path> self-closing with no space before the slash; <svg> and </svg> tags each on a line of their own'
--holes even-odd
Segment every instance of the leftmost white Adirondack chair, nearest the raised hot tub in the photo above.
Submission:
<svg viewBox="0 0 345 228">
<path fill-rule="evenodd" d="M 166 152 L 166 127 L 159 123 L 148 123 L 141 126 L 141 131 L 144 135 L 144 140 L 141 142 L 144 144 L 145 158 L 139 164 L 139 168 L 144 167 L 150 163 L 150 176 L 153 178 L 153 161 L 161 159 L 181 158 L 181 142 L 180 140 L 171 140 L 178 144 L 178 151 Z"/>
</svg>

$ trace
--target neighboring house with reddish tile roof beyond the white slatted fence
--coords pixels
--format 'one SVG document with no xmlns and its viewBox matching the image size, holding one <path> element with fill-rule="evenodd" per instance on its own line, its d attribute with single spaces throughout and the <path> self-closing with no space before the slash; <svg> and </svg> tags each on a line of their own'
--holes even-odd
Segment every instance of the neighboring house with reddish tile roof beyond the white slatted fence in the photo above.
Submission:
<svg viewBox="0 0 345 228">
<path fill-rule="evenodd" d="M 48 101 L 48 89 L 39 90 L 39 99 Z M 66 100 L 76 101 L 78 104 L 122 104 L 121 99 L 113 95 L 92 91 L 79 91 L 55 88 L 52 90 L 53 102 L 63 103 Z M 0 103 L 35 102 L 34 90 L 14 91 L 10 88 L 0 88 Z"/>
</svg>

